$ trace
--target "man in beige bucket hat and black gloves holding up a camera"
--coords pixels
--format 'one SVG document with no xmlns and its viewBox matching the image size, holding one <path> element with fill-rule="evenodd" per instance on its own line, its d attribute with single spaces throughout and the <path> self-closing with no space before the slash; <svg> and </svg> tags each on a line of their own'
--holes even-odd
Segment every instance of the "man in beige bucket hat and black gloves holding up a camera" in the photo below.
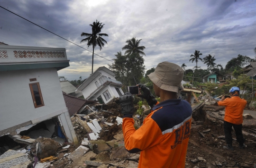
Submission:
<svg viewBox="0 0 256 168">
<path fill-rule="evenodd" d="M 138 168 L 184 168 L 191 130 L 191 105 L 180 97 L 183 69 L 170 62 L 157 65 L 148 75 L 154 84 L 155 100 L 145 85 L 139 84 L 144 98 L 152 108 L 151 113 L 137 130 L 134 128 L 133 98 L 129 92 L 119 97 L 123 114 L 123 134 L 128 152 L 140 151 Z"/>
</svg>

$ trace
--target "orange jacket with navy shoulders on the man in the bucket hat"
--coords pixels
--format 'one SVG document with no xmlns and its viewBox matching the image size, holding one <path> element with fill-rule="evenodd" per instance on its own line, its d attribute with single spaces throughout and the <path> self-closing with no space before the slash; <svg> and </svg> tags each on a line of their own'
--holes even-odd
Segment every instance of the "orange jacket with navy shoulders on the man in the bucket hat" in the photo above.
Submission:
<svg viewBox="0 0 256 168">
<path fill-rule="evenodd" d="M 157 103 L 137 130 L 132 116 L 124 115 L 125 148 L 141 151 L 138 168 L 184 168 L 191 118 L 191 105 L 181 99 Z"/>
</svg>

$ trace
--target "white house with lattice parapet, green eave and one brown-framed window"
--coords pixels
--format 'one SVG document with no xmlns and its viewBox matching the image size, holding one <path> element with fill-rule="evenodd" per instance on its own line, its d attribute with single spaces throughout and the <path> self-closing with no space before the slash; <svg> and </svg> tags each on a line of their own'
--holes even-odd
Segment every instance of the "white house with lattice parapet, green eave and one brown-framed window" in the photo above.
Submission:
<svg viewBox="0 0 256 168">
<path fill-rule="evenodd" d="M 56 136 L 77 143 L 57 74 L 65 67 L 64 48 L 0 45 L 0 138 L 29 144 Z"/>
</svg>

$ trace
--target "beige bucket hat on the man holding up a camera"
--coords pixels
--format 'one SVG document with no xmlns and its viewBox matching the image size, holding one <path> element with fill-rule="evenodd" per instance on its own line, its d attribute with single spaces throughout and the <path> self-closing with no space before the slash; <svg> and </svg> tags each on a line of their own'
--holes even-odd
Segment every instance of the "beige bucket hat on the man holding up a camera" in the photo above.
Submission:
<svg viewBox="0 0 256 168">
<path fill-rule="evenodd" d="M 161 62 L 155 68 L 155 72 L 148 75 L 149 79 L 160 89 L 171 92 L 179 92 L 179 88 L 183 91 L 182 85 L 183 68 L 171 63 Z"/>
</svg>

